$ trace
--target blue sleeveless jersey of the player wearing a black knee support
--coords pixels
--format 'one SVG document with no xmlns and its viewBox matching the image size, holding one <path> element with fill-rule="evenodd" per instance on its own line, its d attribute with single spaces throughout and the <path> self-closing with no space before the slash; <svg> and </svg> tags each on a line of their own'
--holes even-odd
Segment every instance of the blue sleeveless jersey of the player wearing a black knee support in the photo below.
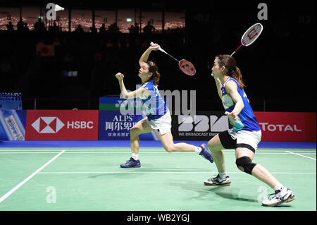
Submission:
<svg viewBox="0 0 317 225">
<path fill-rule="evenodd" d="M 256 117 L 254 116 L 253 110 L 251 108 L 246 93 L 244 92 L 244 90 L 240 88 L 239 83 L 234 78 L 228 78 L 227 80 L 225 80 L 225 83 L 223 83 L 223 86 L 221 87 L 221 100 L 223 102 L 223 107 L 225 108 L 225 111 L 232 112 L 232 110 L 235 109 L 235 102 L 233 101 L 232 97 L 225 91 L 225 84 L 229 80 L 233 80 L 237 84 L 237 91 L 242 97 L 244 103 L 244 108 L 238 115 L 239 120 L 233 121 L 232 119 L 229 119 L 231 125 L 233 126 L 233 130 L 235 130 L 235 132 L 237 132 L 238 130 L 261 130 L 258 121 L 256 121 Z"/>
</svg>

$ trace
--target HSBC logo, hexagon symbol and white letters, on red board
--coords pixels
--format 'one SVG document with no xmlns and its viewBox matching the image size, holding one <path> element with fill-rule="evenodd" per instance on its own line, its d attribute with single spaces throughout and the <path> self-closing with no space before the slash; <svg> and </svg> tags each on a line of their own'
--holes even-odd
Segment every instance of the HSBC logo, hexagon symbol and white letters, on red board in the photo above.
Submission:
<svg viewBox="0 0 317 225">
<path fill-rule="evenodd" d="M 92 121 L 67 121 L 67 129 L 92 129 L 94 122 Z M 56 116 L 41 116 L 32 123 L 32 127 L 38 133 L 58 133 L 65 124 Z"/>
</svg>

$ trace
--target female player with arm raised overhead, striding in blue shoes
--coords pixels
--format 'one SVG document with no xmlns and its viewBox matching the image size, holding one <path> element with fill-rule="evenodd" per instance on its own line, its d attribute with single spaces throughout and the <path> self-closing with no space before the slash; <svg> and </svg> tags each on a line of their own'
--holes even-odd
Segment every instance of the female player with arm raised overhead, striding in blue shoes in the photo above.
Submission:
<svg viewBox="0 0 317 225">
<path fill-rule="evenodd" d="M 124 75 L 117 73 L 116 78 L 120 85 L 121 95 L 125 99 L 141 98 L 143 109 L 147 111 L 147 116 L 141 121 L 137 122 L 135 126 L 130 129 L 130 145 L 132 157 L 125 164 L 121 164 L 122 168 L 140 167 L 139 161 L 139 135 L 142 133 L 149 133 L 152 130 L 159 130 L 159 138 L 167 152 L 197 152 L 204 157 L 204 159 L 213 162 L 211 152 L 208 150 L 206 144 L 199 147 L 189 145 L 184 142 L 175 144 L 171 134 L 171 117 L 166 103 L 161 97 L 158 84 L 161 78 L 156 63 L 148 61 L 151 51 L 157 51 L 160 48 L 159 44 L 151 45 L 139 59 L 139 78 L 142 81 L 142 87 L 139 87 L 133 92 L 128 92 L 123 83 Z"/>
</svg>

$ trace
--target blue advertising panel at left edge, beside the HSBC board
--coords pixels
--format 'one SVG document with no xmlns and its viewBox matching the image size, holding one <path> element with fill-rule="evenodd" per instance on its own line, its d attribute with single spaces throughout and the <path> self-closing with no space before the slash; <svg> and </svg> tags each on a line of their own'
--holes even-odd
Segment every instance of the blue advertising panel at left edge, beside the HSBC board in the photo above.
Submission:
<svg viewBox="0 0 317 225">
<path fill-rule="evenodd" d="M 0 140 L 25 140 L 26 110 L 0 110 Z"/>
</svg>

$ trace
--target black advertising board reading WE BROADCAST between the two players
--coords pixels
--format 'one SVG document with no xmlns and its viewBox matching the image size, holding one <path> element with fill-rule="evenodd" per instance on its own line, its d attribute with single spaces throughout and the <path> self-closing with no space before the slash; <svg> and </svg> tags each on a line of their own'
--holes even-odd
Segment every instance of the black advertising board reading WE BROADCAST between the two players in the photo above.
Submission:
<svg viewBox="0 0 317 225">
<path fill-rule="evenodd" d="M 172 115 L 174 140 L 210 140 L 231 125 L 223 111 L 198 111 L 195 116 Z"/>
</svg>

